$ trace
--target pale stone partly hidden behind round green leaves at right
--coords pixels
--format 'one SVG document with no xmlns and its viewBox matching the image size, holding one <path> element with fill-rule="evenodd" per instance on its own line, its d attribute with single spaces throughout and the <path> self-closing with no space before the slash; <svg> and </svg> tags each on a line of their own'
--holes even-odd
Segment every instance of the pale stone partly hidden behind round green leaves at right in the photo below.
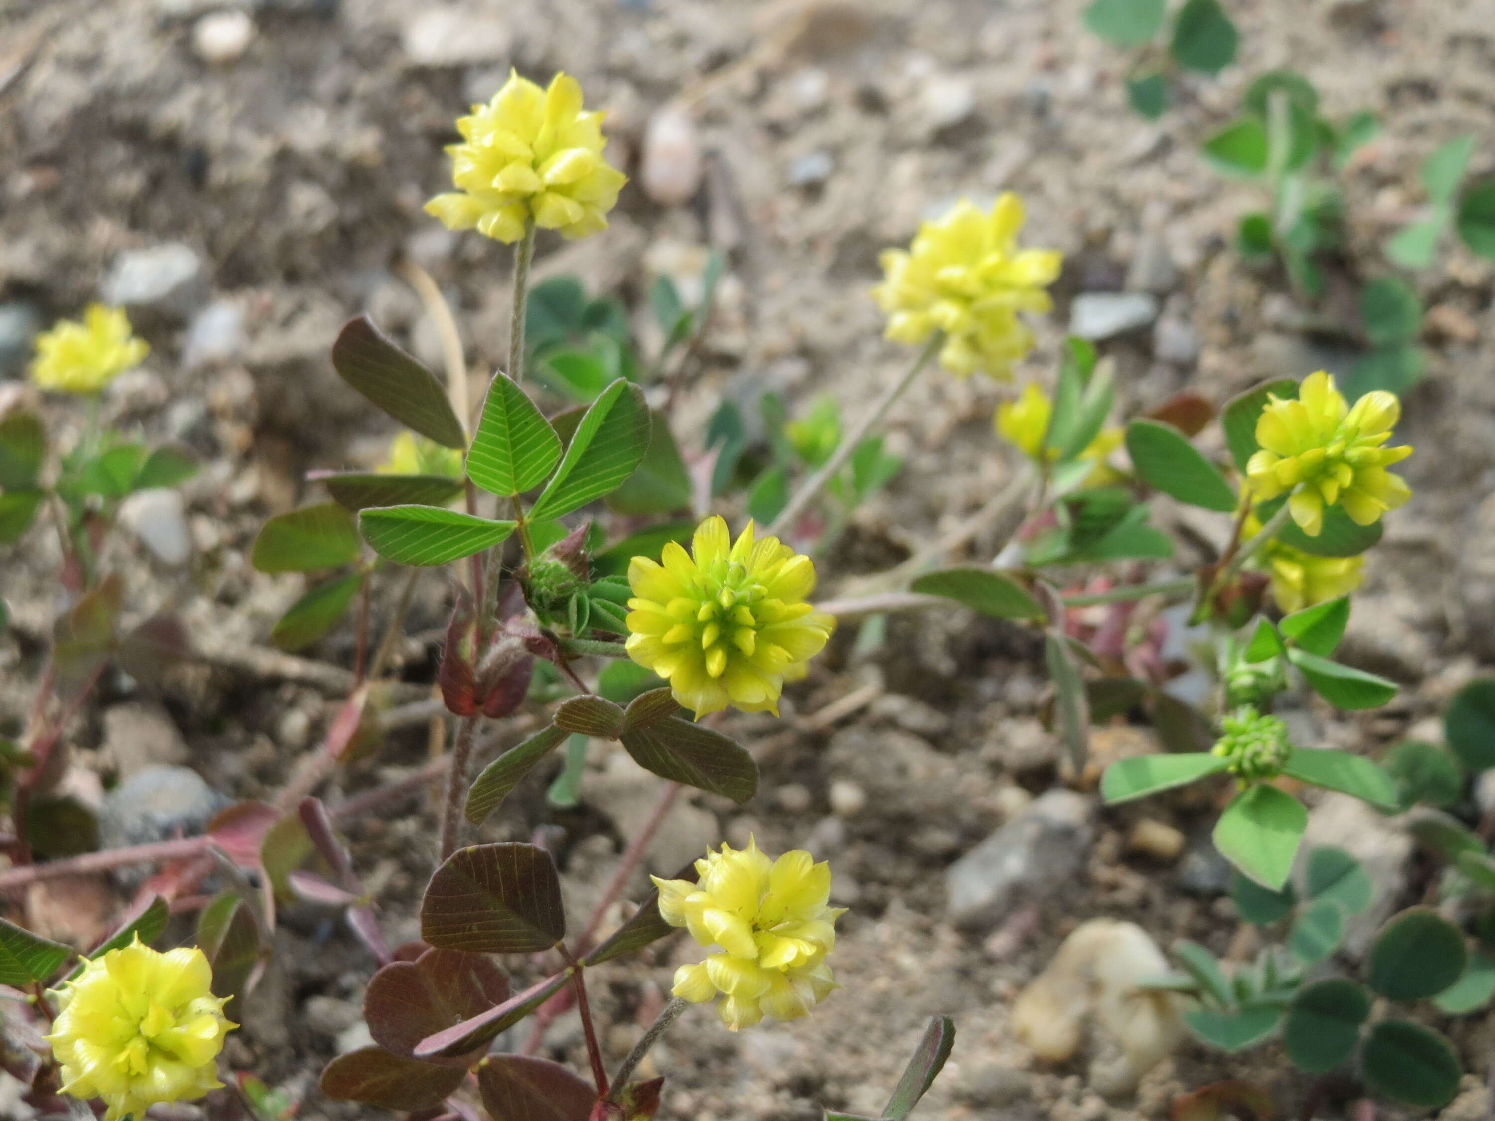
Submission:
<svg viewBox="0 0 1495 1121">
<path fill-rule="evenodd" d="M 1411 859 L 1413 839 L 1396 822 L 1348 794 L 1326 794 L 1308 812 L 1308 828 L 1298 847 L 1293 879 L 1304 886 L 1308 853 L 1323 844 L 1344 849 L 1365 865 L 1371 877 L 1371 906 L 1350 915 L 1344 924 L 1344 952 L 1360 958 L 1381 924 L 1392 916 L 1407 886 L 1407 862 Z"/>
</svg>

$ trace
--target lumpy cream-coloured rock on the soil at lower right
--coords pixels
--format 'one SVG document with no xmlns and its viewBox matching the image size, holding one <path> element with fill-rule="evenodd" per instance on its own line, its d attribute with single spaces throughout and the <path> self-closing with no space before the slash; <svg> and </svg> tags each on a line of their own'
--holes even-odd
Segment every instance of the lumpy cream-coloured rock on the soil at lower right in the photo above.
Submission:
<svg viewBox="0 0 1495 1121">
<path fill-rule="evenodd" d="M 1135 922 L 1082 922 L 1018 995 L 1012 1034 L 1045 1063 L 1063 1063 L 1088 1027 L 1091 1088 L 1130 1093 L 1184 1037 L 1178 995 L 1138 988 L 1166 972 L 1163 951 Z"/>
</svg>

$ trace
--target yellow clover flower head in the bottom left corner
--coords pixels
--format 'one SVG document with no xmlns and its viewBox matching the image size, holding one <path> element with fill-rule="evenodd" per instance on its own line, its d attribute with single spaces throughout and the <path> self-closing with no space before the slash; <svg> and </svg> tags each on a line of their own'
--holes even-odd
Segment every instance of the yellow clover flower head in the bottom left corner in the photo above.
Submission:
<svg viewBox="0 0 1495 1121">
<path fill-rule="evenodd" d="M 238 1027 L 212 995 L 212 969 L 196 946 L 160 954 L 141 945 L 93 958 L 58 994 L 46 1042 L 63 1093 L 100 1099 L 106 1121 L 144 1118 L 157 1102 L 199 1099 L 223 1085 L 217 1058 Z"/>
</svg>

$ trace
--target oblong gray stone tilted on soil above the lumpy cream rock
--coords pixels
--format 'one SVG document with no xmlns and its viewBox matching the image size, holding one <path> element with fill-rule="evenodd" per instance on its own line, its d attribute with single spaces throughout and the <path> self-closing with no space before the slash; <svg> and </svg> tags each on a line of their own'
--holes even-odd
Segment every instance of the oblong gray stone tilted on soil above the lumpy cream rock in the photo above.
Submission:
<svg viewBox="0 0 1495 1121">
<path fill-rule="evenodd" d="M 979 925 L 999 919 L 1018 898 L 1044 898 L 1072 883 L 1090 853 L 1093 818 L 1094 801 L 1073 791 L 1035 798 L 945 870 L 949 916 Z"/>
</svg>

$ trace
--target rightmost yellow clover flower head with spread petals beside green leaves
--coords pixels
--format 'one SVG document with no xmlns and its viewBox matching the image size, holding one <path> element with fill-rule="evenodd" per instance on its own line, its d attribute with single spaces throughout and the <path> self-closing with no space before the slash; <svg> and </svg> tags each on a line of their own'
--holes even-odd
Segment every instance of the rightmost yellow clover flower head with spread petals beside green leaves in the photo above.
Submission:
<svg viewBox="0 0 1495 1121">
<path fill-rule="evenodd" d="M 1262 450 L 1245 465 L 1251 490 L 1263 501 L 1286 492 L 1293 522 L 1308 537 L 1319 537 L 1323 510 L 1332 505 L 1368 526 L 1411 498 L 1407 483 L 1386 469 L 1411 448 L 1381 447 L 1399 419 L 1396 395 L 1374 390 L 1351 408 L 1332 377 L 1310 374 L 1296 401 L 1272 395 L 1262 410 Z"/>
</svg>

